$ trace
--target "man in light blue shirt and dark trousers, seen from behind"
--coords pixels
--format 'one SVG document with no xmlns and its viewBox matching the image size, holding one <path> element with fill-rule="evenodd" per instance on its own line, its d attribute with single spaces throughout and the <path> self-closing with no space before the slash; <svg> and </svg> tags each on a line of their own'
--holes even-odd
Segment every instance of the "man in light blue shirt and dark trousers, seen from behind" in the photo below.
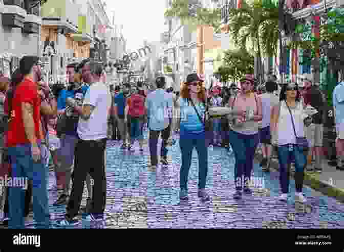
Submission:
<svg viewBox="0 0 344 252">
<path fill-rule="evenodd" d="M 146 99 L 146 110 L 149 126 L 149 153 L 150 165 L 155 169 L 158 165 L 157 145 L 161 134 L 162 143 L 160 149 L 160 162 L 162 165 L 168 165 L 166 149 L 167 141 L 172 135 L 171 127 L 173 116 L 173 98 L 164 88 L 166 85 L 165 77 L 156 79 L 157 89 L 148 94 Z"/>
</svg>

